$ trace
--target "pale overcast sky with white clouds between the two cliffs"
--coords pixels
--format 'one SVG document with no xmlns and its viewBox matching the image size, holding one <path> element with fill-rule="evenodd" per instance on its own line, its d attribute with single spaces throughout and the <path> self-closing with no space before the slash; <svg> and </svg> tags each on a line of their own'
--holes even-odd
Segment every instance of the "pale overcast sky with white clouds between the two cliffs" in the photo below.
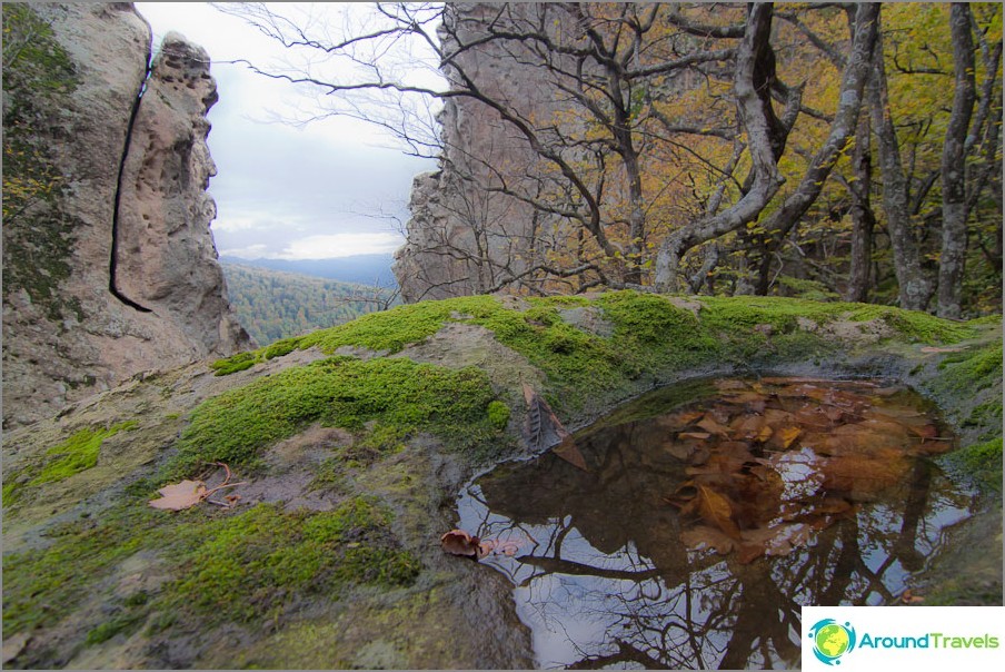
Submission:
<svg viewBox="0 0 1005 672">
<path fill-rule="evenodd" d="M 340 4 L 318 7 L 337 12 Z M 348 118 L 304 128 L 270 121 L 304 99 L 289 83 L 222 61 L 283 58 L 278 46 L 208 3 L 136 6 L 153 29 L 155 49 L 176 30 L 213 61 L 220 100 L 209 112 L 217 165 L 209 192 L 217 201 L 211 230 L 220 255 L 317 259 L 388 253 L 404 243 L 399 225 L 380 215 L 404 224 L 411 180 L 432 170 L 434 161 L 406 156 L 379 129 Z"/>
</svg>

